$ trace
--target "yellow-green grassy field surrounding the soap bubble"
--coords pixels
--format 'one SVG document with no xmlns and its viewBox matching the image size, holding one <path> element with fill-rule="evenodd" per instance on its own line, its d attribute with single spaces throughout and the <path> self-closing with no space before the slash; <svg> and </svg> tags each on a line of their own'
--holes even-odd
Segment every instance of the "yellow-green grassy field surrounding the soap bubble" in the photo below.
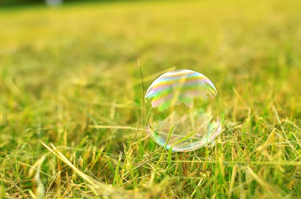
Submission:
<svg viewBox="0 0 301 199">
<path fill-rule="evenodd" d="M 0 198 L 301 198 L 301 1 L 284 2 L 1 9 Z M 136 130 L 138 61 L 144 89 L 176 68 L 213 80 L 215 146 Z"/>
</svg>

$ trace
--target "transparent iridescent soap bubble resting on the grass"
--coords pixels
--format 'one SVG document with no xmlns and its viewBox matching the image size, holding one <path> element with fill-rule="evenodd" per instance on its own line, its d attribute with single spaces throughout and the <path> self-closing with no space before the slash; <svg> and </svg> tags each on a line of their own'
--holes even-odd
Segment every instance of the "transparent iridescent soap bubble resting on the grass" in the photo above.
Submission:
<svg viewBox="0 0 301 199">
<path fill-rule="evenodd" d="M 165 72 L 147 88 L 145 130 L 161 146 L 190 151 L 213 141 L 224 119 L 214 83 L 189 69 Z"/>
</svg>

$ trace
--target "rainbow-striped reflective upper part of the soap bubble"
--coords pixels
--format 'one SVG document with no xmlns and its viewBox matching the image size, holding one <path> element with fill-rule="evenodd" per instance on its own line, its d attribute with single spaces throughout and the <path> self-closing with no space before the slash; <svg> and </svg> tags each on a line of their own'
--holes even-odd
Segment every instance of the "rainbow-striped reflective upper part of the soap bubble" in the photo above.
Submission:
<svg viewBox="0 0 301 199">
<path fill-rule="evenodd" d="M 160 75 L 150 84 L 145 99 L 152 98 L 153 107 L 164 111 L 171 105 L 193 105 L 194 98 L 214 98 L 218 91 L 205 75 L 189 69 L 180 69 Z"/>
</svg>

